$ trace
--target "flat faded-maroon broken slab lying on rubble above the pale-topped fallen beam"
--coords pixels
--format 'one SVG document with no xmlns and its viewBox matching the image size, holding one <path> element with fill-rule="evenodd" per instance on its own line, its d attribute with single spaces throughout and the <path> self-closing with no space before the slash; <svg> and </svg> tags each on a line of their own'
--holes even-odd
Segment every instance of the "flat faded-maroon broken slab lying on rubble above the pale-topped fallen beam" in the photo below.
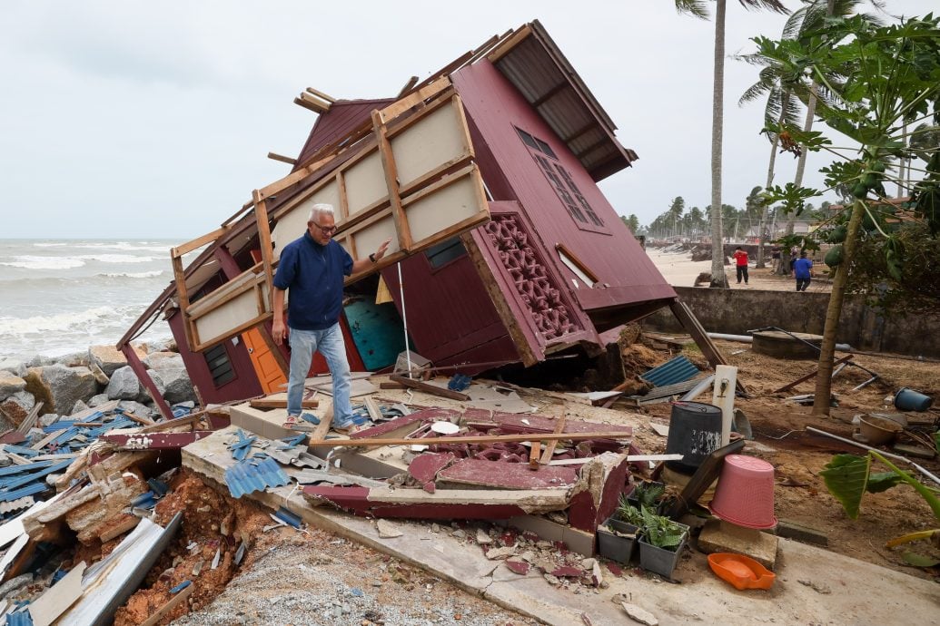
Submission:
<svg viewBox="0 0 940 626">
<path fill-rule="evenodd" d="M 573 484 L 577 478 L 577 471 L 571 467 L 540 466 L 532 471 L 525 463 L 478 459 L 463 459 L 437 472 L 438 481 L 495 489 L 557 489 Z"/>
</svg>

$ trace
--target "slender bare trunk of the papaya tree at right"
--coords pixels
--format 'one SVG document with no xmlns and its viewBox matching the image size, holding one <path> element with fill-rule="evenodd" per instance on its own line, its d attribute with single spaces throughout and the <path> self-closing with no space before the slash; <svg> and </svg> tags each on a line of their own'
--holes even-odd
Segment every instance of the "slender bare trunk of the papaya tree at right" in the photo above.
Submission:
<svg viewBox="0 0 940 626">
<path fill-rule="evenodd" d="M 829 306 L 825 312 L 825 326 L 823 327 L 823 343 L 820 344 L 819 373 L 816 374 L 816 391 L 813 396 L 813 414 L 829 415 L 829 398 L 832 395 L 832 369 L 833 357 L 836 355 L 836 333 L 838 332 L 838 319 L 842 314 L 842 301 L 845 299 L 845 287 L 849 282 L 849 268 L 858 240 L 858 231 L 865 215 L 865 202 L 855 200 L 852 205 L 852 217 L 849 218 L 849 228 L 842 244 L 842 262 L 838 265 L 836 276 L 832 281 L 832 295 L 829 297 Z"/>
</svg>

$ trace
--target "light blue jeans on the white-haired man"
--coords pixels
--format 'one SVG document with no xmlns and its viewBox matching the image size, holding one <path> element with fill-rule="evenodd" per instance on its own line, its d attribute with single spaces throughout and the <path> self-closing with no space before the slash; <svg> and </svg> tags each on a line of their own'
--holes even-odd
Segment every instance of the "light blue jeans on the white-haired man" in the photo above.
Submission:
<svg viewBox="0 0 940 626">
<path fill-rule="evenodd" d="M 342 423 L 352 419 L 350 392 L 352 376 L 343 331 L 337 322 L 324 330 L 290 328 L 290 380 L 288 381 L 288 415 L 300 415 L 304 400 L 304 381 L 310 371 L 313 353 L 320 350 L 333 374 L 333 420 Z"/>
</svg>

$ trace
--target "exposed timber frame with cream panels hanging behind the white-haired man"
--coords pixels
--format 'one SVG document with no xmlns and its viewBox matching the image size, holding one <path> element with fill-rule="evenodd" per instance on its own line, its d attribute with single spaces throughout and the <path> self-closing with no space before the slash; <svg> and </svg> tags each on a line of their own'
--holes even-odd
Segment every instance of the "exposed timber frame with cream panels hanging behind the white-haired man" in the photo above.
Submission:
<svg viewBox="0 0 940 626">
<path fill-rule="evenodd" d="M 230 226 L 171 251 L 186 341 L 193 351 L 201 352 L 272 317 L 274 267 L 284 246 L 305 231 L 310 205 L 335 206 L 335 238 L 353 258 L 364 257 L 386 238 L 392 239 L 379 263 L 348 277 L 347 283 L 490 219 L 462 102 L 449 79 L 424 85 L 370 117 L 371 129 L 352 133 L 355 154 L 336 171 L 321 176 L 348 145 L 337 146 L 330 154 L 318 153 L 290 176 L 252 192 L 252 201 L 243 210 L 254 211 L 258 230 L 261 261 L 254 267 L 191 303 L 182 255 L 224 241 Z M 310 179 L 312 184 L 305 185 Z M 267 199 L 294 185 L 303 191 L 269 215 Z M 274 230 L 269 228 L 271 218 Z"/>
</svg>

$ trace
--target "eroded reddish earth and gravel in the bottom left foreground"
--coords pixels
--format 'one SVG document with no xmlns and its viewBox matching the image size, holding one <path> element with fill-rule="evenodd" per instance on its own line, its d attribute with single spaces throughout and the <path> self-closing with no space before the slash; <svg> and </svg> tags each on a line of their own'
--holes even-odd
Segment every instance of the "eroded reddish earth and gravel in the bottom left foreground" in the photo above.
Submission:
<svg viewBox="0 0 940 626">
<path fill-rule="evenodd" d="M 160 624 L 535 623 L 330 532 L 274 527 L 253 501 L 234 500 L 187 470 L 178 470 L 170 487 L 154 521 L 165 525 L 183 511 L 180 533 L 118 609 L 116 626 L 142 623 L 185 581 L 192 581 L 192 595 Z M 102 546 L 102 554 L 118 542 Z"/>
</svg>

